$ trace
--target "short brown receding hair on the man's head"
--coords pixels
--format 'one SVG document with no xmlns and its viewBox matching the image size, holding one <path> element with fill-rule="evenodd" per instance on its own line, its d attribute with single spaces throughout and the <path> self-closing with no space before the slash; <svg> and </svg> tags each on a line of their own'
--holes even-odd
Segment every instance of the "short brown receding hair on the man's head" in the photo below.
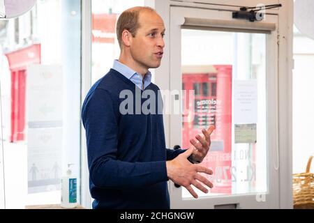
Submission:
<svg viewBox="0 0 314 223">
<path fill-rule="evenodd" d="M 129 8 L 128 10 L 125 10 L 119 17 L 117 21 L 117 39 L 118 43 L 120 46 L 120 49 L 122 49 L 122 33 L 124 30 L 129 31 L 133 37 L 135 37 L 137 29 L 140 28 L 140 24 L 138 22 L 138 17 L 140 15 L 140 12 L 142 10 L 150 10 L 150 11 L 155 11 L 154 8 L 150 7 L 134 7 L 134 8 Z"/>
</svg>

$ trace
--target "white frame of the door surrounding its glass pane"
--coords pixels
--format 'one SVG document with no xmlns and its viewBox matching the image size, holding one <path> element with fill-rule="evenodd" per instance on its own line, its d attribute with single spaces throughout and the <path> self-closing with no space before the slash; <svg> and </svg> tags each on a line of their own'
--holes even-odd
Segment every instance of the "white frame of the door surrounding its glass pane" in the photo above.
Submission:
<svg viewBox="0 0 314 223">
<path fill-rule="evenodd" d="M 223 6 L 221 6 L 223 8 Z M 207 20 L 224 20 L 231 21 L 232 17 L 230 12 L 219 11 L 219 10 L 208 10 L 208 9 L 199 9 L 199 8 L 181 8 L 181 7 L 171 7 L 170 8 L 170 89 L 181 89 L 181 20 L 184 17 L 193 17 L 193 18 L 202 18 Z M 238 22 L 238 21 L 237 21 Z M 269 24 L 274 24 L 277 26 L 277 16 L 276 15 L 267 15 L 267 22 Z M 270 23 L 271 22 L 271 23 Z M 264 23 L 264 22 L 263 22 Z M 246 29 L 246 26 L 251 25 L 251 22 L 241 22 L 244 26 L 242 29 Z M 260 24 L 257 23 L 256 24 Z M 266 24 L 266 23 L 265 23 Z M 225 28 L 220 26 L 219 28 Z M 272 102 L 268 104 L 267 114 L 278 114 L 276 107 L 276 93 L 278 77 L 276 70 L 276 65 L 278 64 L 277 50 L 277 33 L 276 30 L 272 31 L 271 34 L 267 34 L 267 56 L 266 59 L 266 70 L 267 70 L 267 102 Z M 171 81 L 175 80 L 175 81 Z M 245 195 L 232 195 L 232 196 L 220 196 L 220 197 L 210 197 L 202 199 L 181 199 L 181 188 L 174 187 L 173 184 L 170 184 L 170 197 L 172 198 L 172 206 L 174 208 L 214 208 L 217 205 L 224 206 L 236 206 L 237 208 L 278 208 L 278 169 L 272 169 L 272 164 L 277 164 L 278 157 L 278 130 L 276 126 L 276 117 L 269 116 L 269 125 L 267 125 L 267 132 L 269 135 L 267 147 L 273 148 L 267 154 L 269 161 L 269 192 L 264 194 L 264 202 L 257 202 L 256 194 L 245 194 Z M 175 134 L 181 129 L 181 117 L 172 116 L 170 118 L 170 145 L 174 146 L 175 144 L 181 144 L 181 136 Z M 181 131 L 180 131 L 181 132 Z M 271 137 L 271 138 L 270 138 Z M 262 194 L 261 194 L 262 195 Z"/>
</svg>

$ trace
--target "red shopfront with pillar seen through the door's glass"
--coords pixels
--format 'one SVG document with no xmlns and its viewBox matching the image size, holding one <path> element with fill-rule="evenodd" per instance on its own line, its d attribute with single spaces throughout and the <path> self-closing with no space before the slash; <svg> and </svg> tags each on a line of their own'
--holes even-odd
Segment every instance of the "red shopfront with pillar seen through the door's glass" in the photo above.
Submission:
<svg viewBox="0 0 314 223">
<path fill-rule="evenodd" d="M 188 148 L 189 140 L 196 134 L 202 135 L 202 128 L 214 125 L 209 153 L 202 165 L 214 171 L 211 181 L 215 187 L 211 188 L 211 194 L 231 194 L 232 66 L 183 66 L 182 84 L 184 90 L 195 92 L 194 120 L 182 123 L 183 147 Z"/>
</svg>

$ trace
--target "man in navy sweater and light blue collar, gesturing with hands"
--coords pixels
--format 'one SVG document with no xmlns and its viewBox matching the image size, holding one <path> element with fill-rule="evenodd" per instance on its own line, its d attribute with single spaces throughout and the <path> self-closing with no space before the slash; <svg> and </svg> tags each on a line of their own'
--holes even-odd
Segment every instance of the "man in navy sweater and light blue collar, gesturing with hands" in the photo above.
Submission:
<svg viewBox="0 0 314 223">
<path fill-rule="evenodd" d="M 186 187 L 195 198 L 191 185 L 205 193 L 205 185 L 213 187 L 199 174 L 212 171 L 193 164 L 202 162 L 207 154 L 213 128 L 202 130 L 204 137 L 197 135 L 197 141 L 191 139 L 188 150 L 174 151 L 165 147 L 162 114 L 135 114 L 136 108 L 130 105 L 126 108 L 129 113 L 121 112 L 123 91 L 160 93 L 151 83 L 149 68 L 160 66 L 164 34 L 163 20 L 154 9 L 124 11 L 117 22 L 119 61 L 91 87 L 84 101 L 82 122 L 93 208 L 170 208 L 169 179 Z M 143 103 L 141 99 L 140 105 Z"/>
</svg>

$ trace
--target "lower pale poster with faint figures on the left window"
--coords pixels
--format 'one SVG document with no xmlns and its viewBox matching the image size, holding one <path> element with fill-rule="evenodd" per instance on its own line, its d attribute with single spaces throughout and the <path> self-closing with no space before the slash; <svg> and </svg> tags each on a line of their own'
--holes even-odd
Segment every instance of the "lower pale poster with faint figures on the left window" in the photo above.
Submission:
<svg viewBox="0 0 314 223">
<path fill-rule="evenodd" d="M 60 189 L 62 128 L 29 128 L 28 192 Z"/>
</svg>

